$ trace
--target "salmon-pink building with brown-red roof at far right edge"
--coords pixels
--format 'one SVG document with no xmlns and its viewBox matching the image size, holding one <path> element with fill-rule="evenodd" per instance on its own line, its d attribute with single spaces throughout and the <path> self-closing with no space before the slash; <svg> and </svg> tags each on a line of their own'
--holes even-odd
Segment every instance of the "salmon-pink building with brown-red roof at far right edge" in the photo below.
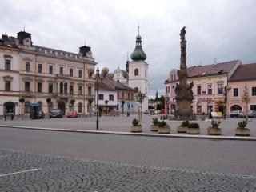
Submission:
<svg viewBox="0 0 256 192">
<path fill-rule="evenodd" d="M 227 113 L 232 110 L 246 111 L 246 103 L 242 102 L 242 94 L 247 87 L 250 96 L 248 110 L 256 110 L 256 63 L 241 65 L 231 76 L 228 86 L 231 87 L 227 98 Z"/>
</svg>

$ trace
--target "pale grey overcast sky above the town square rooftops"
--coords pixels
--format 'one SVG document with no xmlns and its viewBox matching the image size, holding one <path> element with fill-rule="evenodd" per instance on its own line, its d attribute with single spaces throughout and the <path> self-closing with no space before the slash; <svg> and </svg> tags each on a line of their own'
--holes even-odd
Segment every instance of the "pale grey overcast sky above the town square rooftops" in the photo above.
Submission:
<svg viewBox="0 0 256 192">
<path fill-rule="evenodd" d="M 1 0 L 0 32 L 32 34 L 35 45 L 78 53 L 91 46 L 98 67 L 125 70 L 138 22 L 150 64 L 150 95 L 179 68 L 179 33 L 186 26 L 187 66 L 239 59 L 256 62 L 256 1 Z"/>
</svg>

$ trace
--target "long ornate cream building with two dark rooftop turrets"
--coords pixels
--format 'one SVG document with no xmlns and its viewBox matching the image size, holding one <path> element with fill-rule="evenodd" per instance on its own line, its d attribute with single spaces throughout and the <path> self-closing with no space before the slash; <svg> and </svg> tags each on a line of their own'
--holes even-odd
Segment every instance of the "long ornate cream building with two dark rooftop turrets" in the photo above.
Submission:
<svg viewBox="0 0 256 192">
<path fill-rule="evenodd" d="M 17 98 L 25 99 L 24 111 L 18 107 L 22 103 L 17 104 L 15 100 L 15 114 L 29 113 L 32 102 L 38 102 L 45 113 L 53 108 L 61 109 L 63 114 L 69 110 L 77 110 L 79 114 L 89 113 L 89 100 L 94 99 L 92 75 L 96 64 L 89 46 L 80 47 L 78 54 L 34 46 L 31 34 L 25 31 L 19 32 L 17 38 L 2 37 L 3 44 L 8 41 L 16 47 L 15 57 L 10 55 L 13 58 L 10 71 L 18 78 L 11 81 L 15 86 L 10 86 L 9 94 L 16 93 Z M 4 57 L 1 55 L 1 66 Z M 49 103 L 47 98 L 51 99 Z M 2 113 L 5 112 L 3 109 Z"/>
</svg>

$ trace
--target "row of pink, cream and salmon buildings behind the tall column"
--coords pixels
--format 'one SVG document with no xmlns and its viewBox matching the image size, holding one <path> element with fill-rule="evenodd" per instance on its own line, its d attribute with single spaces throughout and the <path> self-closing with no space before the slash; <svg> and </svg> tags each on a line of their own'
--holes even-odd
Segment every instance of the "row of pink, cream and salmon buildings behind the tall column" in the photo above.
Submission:
<svg viewBox="0 0 256 192">
<path fill-rule="evenodd" d="M 176 110 L 175 87 L 179 82 L 179 70 L 171 70 L 165 81 L 166 95 L 169 97 L 170 113 Z M 256 110 L 256 63 L 242 64 L 241 61 L 214 63 L 206 66 L 191 66 L 187 68 L 188 82 L 194 82 L 194 114 L 209 114 L 209 112 L 226 112 L 246 110 L 242 102 L 245 87 L 249 90 L 249 109 Z M 224 87 L 230 87 L 225 104 Z"/>
</svg>

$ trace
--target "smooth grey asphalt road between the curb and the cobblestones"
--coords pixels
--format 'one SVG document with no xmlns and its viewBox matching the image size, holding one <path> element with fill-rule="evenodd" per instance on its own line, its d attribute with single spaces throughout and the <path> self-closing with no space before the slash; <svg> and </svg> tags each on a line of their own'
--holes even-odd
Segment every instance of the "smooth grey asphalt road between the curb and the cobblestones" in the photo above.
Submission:
<svg viewBox="0 0 256 192">
<path fill-rule="evenodd" d="M 0 148 L 135 166 L 256 175 L 256 142 L 77 134 L 0 127 Z"/>
</svg>

